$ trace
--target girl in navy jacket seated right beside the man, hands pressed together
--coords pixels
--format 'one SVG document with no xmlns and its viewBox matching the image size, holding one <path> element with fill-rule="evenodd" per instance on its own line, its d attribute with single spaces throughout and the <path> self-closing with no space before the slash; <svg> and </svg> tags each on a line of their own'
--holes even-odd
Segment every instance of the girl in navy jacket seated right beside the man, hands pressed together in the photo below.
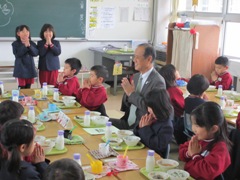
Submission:
<svg viewBox="0 0 240 180">
<path fill-rule="evenodd" d="M 142 116 L 134 134 L 162 158 L 167 158 L 173 135 L 173 107 L 165 89 L 152 89 L 146 96 L 148 113 Z"/>
</svg>

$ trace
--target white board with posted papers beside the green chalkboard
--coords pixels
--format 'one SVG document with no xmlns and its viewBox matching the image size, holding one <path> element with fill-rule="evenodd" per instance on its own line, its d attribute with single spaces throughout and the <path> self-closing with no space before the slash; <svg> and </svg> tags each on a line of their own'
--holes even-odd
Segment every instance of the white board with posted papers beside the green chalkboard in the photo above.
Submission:
<svg viewBox="0 0 240 180">
<path fill-rule="evenodd" d="M 89 0 L 86 39 L 151 39 L 153 0 Z"/>
</svg>

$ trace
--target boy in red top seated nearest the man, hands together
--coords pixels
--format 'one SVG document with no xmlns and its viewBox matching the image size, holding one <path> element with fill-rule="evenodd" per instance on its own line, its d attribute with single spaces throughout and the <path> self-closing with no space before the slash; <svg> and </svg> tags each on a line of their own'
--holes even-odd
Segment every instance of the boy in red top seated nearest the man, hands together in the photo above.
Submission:
<svg viewBox="0 0 240 180">
<path fill-rule="evenodd" d="M 90 77 L 83 83 L 77 93 L 77 100 L 89 110 L 98 109 L 107 101 L 107 92 L 103 86 L 104 80 L 108 77 L 108 70 L 101 65 L 93 66 L 90 69 Z"/>
</svg>

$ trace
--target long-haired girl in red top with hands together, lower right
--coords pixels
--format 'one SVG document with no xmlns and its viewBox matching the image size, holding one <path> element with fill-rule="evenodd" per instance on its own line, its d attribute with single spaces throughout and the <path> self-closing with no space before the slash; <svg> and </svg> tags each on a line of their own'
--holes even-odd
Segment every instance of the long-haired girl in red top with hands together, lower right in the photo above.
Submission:
<svg viewBox="0 0 240 180">
<path fill-rule="evenodd" d="M 184 169 L 195 179 L 212 180 L 231 164 L 231 142 L 227 136 L 227 123 L 221 107 L 205 102 L 191 113 L 195 135 L 179 147 L 179 158 Z"/>
</svg>

